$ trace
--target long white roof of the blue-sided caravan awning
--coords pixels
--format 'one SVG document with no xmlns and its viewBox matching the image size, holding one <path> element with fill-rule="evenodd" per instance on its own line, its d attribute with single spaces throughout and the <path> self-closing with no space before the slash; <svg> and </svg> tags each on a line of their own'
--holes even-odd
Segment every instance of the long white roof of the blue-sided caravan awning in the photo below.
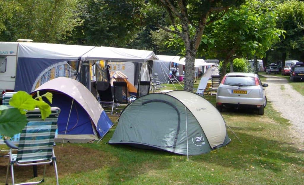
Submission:
<svg viewBox="0 0 304 185">
<path fill-rule="evenodd" d="M 113 60 L 121 62 L 146 62 L 158 59 L 152 51 L 84 45 L 19 43 L 18 57 L 66 60 Z"/>
</svg>

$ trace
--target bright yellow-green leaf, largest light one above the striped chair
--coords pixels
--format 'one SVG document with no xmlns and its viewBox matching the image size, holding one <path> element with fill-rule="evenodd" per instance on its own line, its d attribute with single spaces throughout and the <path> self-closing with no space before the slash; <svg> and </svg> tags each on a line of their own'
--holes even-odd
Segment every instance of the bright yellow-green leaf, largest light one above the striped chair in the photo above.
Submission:
<svg viewBox="0 0 304 185">
<path fill-rule="evenodd" d="M 9 105 L 16 107 L 21 113 L 25 114 L 24 110 L 33 110 L 36 107 L 36 102 L 31 95 L 24 91 L 18 91 L 9 100 Z"/>
</svg>

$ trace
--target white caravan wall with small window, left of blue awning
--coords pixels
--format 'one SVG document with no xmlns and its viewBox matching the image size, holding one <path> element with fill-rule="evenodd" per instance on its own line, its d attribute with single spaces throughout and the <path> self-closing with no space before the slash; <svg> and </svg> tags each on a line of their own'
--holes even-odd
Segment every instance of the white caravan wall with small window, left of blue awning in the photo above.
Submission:
<svg viewBox="0 0 304 185">
<path fill-rule="evenodd" d="M 14 91 L 17 49 L 17 42 L 0 42 L 0 104 L 5 92 Z"/>
</svg>

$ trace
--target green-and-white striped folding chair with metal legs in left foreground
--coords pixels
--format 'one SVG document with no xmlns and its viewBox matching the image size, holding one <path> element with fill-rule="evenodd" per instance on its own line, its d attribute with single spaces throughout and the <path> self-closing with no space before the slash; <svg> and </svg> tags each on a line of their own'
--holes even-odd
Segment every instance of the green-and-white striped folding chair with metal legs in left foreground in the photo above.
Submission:
<svg viewBox="0 0 304 185">
<path fill-rule="evenodd" d="M 58 185 L 57 163 L 53 146 L 59 113 L 59 108 L 52 107 L 50 116 L 45 120 L 42 120 L 39 109 L 36 108 L 33 111 L 28 111 L 26 116 L 29 122 L 20 134 L 18 147 L 15 146 L 11 140 L 4 141 L 10 148 L 9 164 L 7 166 L 5 184 L 8 184 L 9 168 L 11 168 L 12 173 L 12 184 L 15 184 L 14 164 L 19 166 L 44 165 L 42 180 L 18 183 L 18 185 L 21 185 L 38 184 L 43 182 L 46 172 L 46 165 L 54 163 L 53 166 L 55 168 L 56 182 Z M 12 149 L 17 149 L 17 154 L 12 154 Z"/>
</svg>

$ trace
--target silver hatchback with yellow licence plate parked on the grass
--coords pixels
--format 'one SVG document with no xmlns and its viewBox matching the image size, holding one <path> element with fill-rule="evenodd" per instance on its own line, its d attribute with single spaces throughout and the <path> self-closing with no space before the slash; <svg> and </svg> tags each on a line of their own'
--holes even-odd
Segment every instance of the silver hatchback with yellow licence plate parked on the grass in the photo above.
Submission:
<svg viewBox="0 0 304 185">
<path fill-rule="evenodd" d="M 254 73 L 230 72 L 227 73 L 216 93 L 216 108 L 221 112 L 223 108 L 251 108 L 258 109 L 264 115 L 267 104 L 264 87 L 259 76 Z"/>
</svg>

